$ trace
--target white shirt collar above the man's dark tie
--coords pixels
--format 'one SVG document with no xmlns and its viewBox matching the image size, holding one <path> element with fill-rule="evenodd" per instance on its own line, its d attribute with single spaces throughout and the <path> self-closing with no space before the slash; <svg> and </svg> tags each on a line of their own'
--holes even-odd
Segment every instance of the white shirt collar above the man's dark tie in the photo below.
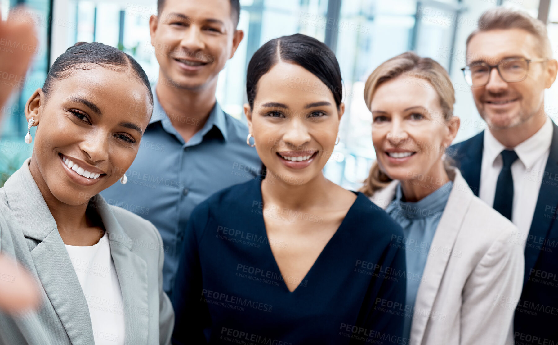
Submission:
<svg viewBox="0 0 558 345">
<path fill-rule="evenodd" d="M 541 156 L 549 150 L 551 141 L 552 121 L 547 117 L 545 123 L 534 135 L 519 143 L 513 150 L 516 151 L 523 165 L 525 165 L 527 169 L 532 169 L 533 165 L 535 165 Z M 506 149 L 506 146 L 502 145 L 490 131 L 484 131 L 483 146 L 483 156 L 489 160 L 491 166 L 502 150 Z"/>
</svg>

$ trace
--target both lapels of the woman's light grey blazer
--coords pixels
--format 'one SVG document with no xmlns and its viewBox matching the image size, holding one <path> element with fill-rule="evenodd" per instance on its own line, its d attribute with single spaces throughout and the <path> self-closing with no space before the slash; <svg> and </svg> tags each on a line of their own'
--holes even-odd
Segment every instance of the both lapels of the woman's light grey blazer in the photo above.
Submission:
<svg viewBox="0 0 558 345">
<path fill-rule="evenodd" d="M 71 343 L 94 345 L 87 301 L 56 221 L 31 176 L 29 161 L 27 159 L 4 184 L 8 207 L 17 218 L 23 236 L 40 242 L 31 251 L 31 257 Z M 113 208 L 100 194 L 90 200 L 89 206 L 99 214 L 109 237 L 110 255 L 122 290 L 126 344 L 146 344 L 149 317 L 159 313 L 148 308 L 147 263 L 132 251 L 134 239 L 124 232 L 113 214 Z"/>
</svg>

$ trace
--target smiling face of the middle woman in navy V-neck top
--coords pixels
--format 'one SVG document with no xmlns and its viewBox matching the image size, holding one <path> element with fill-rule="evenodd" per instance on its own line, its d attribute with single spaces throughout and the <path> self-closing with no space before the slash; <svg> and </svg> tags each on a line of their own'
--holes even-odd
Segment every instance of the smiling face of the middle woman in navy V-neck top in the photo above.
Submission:
<svg viewBox="0 0 558 345">
<path fill-rule="evenodd" d="M 315 85 L 300 90 L 300 82 Z M 258 81 L 253 111 L 244 106 L 259 158 L 270 176 L 304 184 L 321 174 L 335 146 L 344 104 L 310 71 L 280 62 Z"/>
</svg>

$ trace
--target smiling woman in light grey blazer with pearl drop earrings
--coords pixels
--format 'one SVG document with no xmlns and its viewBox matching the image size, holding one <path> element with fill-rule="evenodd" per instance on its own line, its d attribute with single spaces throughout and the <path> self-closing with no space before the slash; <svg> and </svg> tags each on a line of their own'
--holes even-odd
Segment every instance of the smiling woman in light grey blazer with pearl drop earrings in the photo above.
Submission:
<svg viewBox="0 0 558 345">
<path fill-rule="evenodd" d="M 0 250 L 39 282 L 41 303 L 0 312 L 0 344 L 170 343 L 161 236 L 98 194 L 126 183 L 152 107 L 147 76 L 131 56 L 83 42 L 27 100 L 35 146 L 0 188 Z"/>
</svg>

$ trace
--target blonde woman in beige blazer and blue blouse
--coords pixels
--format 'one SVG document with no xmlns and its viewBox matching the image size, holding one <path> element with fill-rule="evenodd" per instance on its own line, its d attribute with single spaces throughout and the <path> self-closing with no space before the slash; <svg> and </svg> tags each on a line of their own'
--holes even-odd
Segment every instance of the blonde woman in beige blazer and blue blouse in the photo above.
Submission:
<svg viewBox="0 0 558 345">
<path fill-rule="evenodd" d="M 444 159 L 459 128 L 449 75 L 406 52 L 372 72 L 364 97 L 377 160 L 361 191 L 403 227 L 407 303 L 395 312 L 406 315 L 405 342 L 513 344 L 523 248 Z"/>
</svg>

